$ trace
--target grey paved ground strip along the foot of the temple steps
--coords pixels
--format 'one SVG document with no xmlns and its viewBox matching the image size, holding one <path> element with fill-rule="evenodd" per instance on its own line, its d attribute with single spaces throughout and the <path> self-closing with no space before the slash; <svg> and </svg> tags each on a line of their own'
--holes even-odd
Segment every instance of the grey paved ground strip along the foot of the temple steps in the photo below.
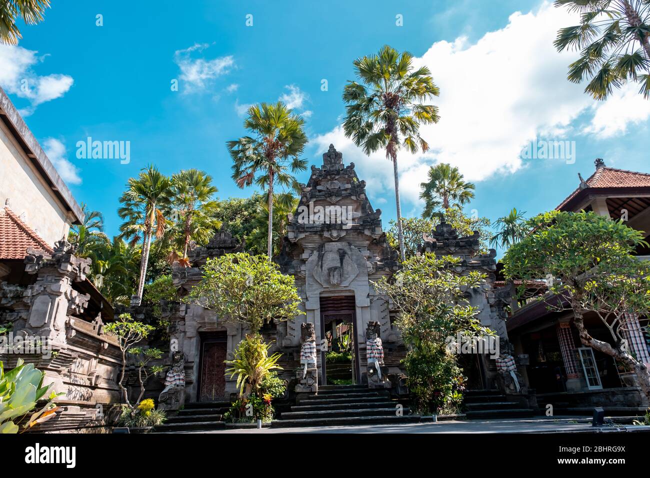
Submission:
<svg viewBox="0 0 650 478">
<path fill-rule="evenodd" d="M 554 432 L 650 432 L 650 427 L 619 425 L 595 429 L 590 419 L 526 418 L 502 420 L 443 421 L 438 423 L 410 423 L 404 425 L 370 425 L 346 427 L 304 427 L 233 429 L 207 433 L 554 433 Z"/>
</svg>

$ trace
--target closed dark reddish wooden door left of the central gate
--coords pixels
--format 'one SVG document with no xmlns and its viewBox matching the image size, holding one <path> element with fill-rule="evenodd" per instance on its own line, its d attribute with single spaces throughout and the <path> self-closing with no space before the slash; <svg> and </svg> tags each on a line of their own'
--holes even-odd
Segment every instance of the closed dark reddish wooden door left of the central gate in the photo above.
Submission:
<svg viewBox="0 0 650 478">
<path fill-rule="evenodd" d="M 201 334 L 200 402 L 223 401 L 226 393 L 226 332 Z"/>
</svg>

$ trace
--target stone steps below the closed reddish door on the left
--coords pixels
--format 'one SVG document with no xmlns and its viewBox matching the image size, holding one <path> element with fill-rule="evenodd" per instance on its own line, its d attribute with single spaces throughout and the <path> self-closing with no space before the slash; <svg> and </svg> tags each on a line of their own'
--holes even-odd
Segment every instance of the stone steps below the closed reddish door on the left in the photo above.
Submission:
<svg viewBox="0 0 650 478">
<path fill-rule="evenodd" d="M 224 414 L 230 408 L 228 402 L 194 402 L 186 403 L 177 415 L 168 416 L 167 420 L 155 427 L 154 432 L 202 432 L 226 428 Z"/>
</svg>

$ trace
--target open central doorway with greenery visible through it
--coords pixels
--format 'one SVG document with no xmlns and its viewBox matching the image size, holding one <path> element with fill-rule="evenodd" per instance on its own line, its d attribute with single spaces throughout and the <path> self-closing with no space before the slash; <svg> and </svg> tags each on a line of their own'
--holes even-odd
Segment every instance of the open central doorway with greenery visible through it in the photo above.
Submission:
<svg viewBox="0 0 650 478">
<path fill-rule="evenodd" d="M 320 298 L 320 336 L 328 341 L 320 352 L 322 383 L 361 383 L 354 295 Z"/>
</svg>

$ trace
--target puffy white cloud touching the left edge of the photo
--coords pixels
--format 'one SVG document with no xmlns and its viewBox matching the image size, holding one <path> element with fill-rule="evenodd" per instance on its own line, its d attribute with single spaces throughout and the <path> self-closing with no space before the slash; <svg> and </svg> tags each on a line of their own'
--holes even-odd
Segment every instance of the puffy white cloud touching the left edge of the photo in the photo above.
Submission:
<svg viewBox="0 0 650 478">
<path fill-rule="evenodd" d="M 0 86 L 8 94 L 29 100 L 30 106 L 20 111 L 23 116 L 46 101 L 60 98 L 74 82 L 69 75 L 37 75 L 32 68 L 45 59 L 37 53 L 19 46 L 0 45 Z"/>
</svg>

